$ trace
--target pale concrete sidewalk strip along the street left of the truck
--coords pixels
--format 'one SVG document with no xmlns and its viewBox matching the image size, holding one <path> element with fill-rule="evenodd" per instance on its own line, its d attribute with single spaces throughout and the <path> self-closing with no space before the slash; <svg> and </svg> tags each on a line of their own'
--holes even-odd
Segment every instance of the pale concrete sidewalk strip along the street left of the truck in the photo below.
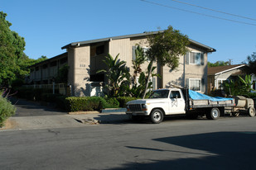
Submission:
<svg viewBox="0 0 256 170">
<path fill-rule="evenodd" d="M 80 127 L 99 124 L 122 124 L 128 122 L 125 112 L 87 113 L 77 115 L 14 116 L 0 130 L 33 130 L 49 128 Z"/>
</svg>

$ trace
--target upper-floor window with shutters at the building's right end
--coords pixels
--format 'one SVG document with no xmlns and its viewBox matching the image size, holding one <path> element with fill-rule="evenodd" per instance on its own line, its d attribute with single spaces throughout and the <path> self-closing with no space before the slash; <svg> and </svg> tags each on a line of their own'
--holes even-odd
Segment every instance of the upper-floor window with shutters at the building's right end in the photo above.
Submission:
<svg viewBox="0 0 256 170">
<path fill-rule="evenodd" d="M 186 64 L 204 64 L 204 54 L 200 52 L 187 52 L 186 53 Z"/>
</svg>

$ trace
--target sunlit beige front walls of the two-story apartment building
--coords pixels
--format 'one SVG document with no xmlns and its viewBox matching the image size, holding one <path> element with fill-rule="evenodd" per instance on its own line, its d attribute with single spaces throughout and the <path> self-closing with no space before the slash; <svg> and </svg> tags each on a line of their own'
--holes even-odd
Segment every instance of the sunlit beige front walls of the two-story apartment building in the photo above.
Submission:
<svg viewBox="0 0 256 170">
<path fill-rule="evenodd" d="M 109 40 L 105 42 L 105 53 L 99 55 L 92 55 L 94 46 L 86 45 L 68 50 L 68 64 L 70 66 L 69 83 L 74 89 L 74 96 L 89 96 L 89 74 L 96 73 L 97 70 L 104 68 L 104 56 L 106 52 L 111 54 L 114 58 L 119 54 L 119 59 L 127 62 L 130 73 L 133 75 L 133 46 L 141 45 L 148 47 L 146 37 L 125 38 L 119 40 Z M 96 45 L 97 46 L 97 45 Z M 92 53 L 90 53 L 92 50 Z M 193 52 L 204 52 L 202 50 L 189 48 Z M 90 65 L 91 64 L 91 65 Z M 149 62 L 142 65 L 142 70 L 145 72 Z M 157 66 L 157 64 L 154 64 Z M 204 65 L 186 64 L 185 56 L 180 56 L 179 67 L 171 70 L 167 66 L 159 66 L 155 73 L 162 74 L 162 78 L 157 78 L 157 88 L 170 87 L 170 84 L 177 84 L 182 87 L 186 86 L 186 78 L 204 78 L 207 83 L 207 53 L 204 53 Z M 207 86 L 205 86 L 205 92 Z"/>
</svg>

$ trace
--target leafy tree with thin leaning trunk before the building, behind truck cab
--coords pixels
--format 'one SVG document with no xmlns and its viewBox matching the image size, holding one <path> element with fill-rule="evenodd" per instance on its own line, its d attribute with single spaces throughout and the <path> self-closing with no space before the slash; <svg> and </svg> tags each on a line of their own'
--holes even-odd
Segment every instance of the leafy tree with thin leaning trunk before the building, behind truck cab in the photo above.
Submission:
<svg viewBox="0 0 256 170">
<path fill-rule="evenodd" d="M 186 54 L 186 46 L 190 44 L 187 35 L 181 34 L 180 31 L 173 29 L 172 26 L 168 26 L 165 31 L 158 31 L 157 34 L 149 34 L 147 40 L 149 43 L 149 49 L 146 52 L 148 59 L 151 62 L 157 61 L 162 66 L 167 64 L 171 69 L 178 67 L 180 55 Z M 148 82 L 151 75 L 152 66 L 147 75 L 143 98 L 147 94 Z"/>
</svg>

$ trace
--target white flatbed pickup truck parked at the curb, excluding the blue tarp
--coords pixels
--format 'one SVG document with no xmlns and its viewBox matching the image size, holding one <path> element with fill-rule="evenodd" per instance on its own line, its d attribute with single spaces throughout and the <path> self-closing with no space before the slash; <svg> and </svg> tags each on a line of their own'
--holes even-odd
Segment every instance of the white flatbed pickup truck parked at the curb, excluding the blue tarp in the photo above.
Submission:
<svg viewBox="0 0 256 170">
<path fill-rule="evenodd" d="M 233 98 L 194 100 L 190 97 L 189 92 L 194 91 L 186 88 L 155 90 L 147 99 L 128 102 L 126 114 L 134 120 L 139 116 L 149 116 L 152 123 L 155 124 L 161 123 L 164 116 L 178 114 L 186 114 L 193 118 L 205 115 L 208 119 L 215 120 L 220 114 L 225 113 L 225 108 L 231 109 L 235 106 Z"/>
</svg>

